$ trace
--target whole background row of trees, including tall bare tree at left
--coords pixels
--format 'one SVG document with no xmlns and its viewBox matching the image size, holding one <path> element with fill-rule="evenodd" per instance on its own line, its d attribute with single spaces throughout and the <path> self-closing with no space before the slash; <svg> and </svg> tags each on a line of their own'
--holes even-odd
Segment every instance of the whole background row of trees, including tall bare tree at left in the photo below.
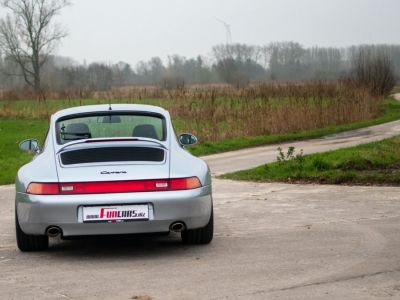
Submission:
<svg viewBox="0 0 400 300">
<path fill-rule="evenodd" d="M 0 88 L 109 90 L 114 86 L 303 81 L 352 78 L 374 91 L 400 79 L 400 45 L 347 48 L 304 47 L 296 42 L 255 46 L 221 44 L 207 56 L 153 57 L 132 67 L 126 62 L 79 64 L 54 52 L 66 30 L 56 22 L 68 0 L 0 0 Z M 373 83 L 372 83 L 373 82 Z M 383 87 L 384 85 L 384 87 Z"/>
</svg>

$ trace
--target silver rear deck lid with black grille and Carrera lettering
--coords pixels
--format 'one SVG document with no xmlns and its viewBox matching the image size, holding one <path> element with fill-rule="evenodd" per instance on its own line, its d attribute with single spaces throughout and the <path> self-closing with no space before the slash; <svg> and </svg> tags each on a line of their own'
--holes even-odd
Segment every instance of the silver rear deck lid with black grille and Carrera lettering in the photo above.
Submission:
<svg viewBox="0 0 400 300">
<path fill-rule="evenodd" d="M 169 178 L 168 150 L 152 143 L 95 143 L 57 154 L 60 182 L 99 182 Z"/>
</svg>

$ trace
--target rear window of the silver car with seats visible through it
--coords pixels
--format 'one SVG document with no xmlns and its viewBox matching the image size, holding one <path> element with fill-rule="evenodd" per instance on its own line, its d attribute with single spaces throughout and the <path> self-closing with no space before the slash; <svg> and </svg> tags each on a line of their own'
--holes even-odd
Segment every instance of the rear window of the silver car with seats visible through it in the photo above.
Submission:
<svg viewBox="0 0 400 300">
<path fill-rule="evenodd" d="M 164 141 L 165 119 L 158 114 L 101 113 L 63 117 L 56 122 L 57 141 L 138 137 Z"/>
</svg>

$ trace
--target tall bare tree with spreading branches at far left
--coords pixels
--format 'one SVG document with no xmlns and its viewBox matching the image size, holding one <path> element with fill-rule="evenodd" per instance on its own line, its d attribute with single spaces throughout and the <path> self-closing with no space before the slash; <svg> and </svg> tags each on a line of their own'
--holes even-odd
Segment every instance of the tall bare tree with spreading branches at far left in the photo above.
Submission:
<svg viewBox="0 0 400 300">
<path fill-rule="evenodd" d="M 66 31 L 54 22 L 68 0 L 0 0 L 9 14 L 0 20 L 0 49 L 14 61 L 25 82 L 41 91 L 41 68 Z"/>
</svg>

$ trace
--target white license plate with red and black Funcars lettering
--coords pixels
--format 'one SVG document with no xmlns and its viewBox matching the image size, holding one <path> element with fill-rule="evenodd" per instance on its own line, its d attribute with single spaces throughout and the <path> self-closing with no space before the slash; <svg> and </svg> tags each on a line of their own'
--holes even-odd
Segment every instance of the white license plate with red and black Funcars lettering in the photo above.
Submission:
<svg viewBox="0 0 400 300">
<path fill-rule="evenodd" d="M 117 222 L 148 219 L 149 206 L 147 204 L 83 207 L 83 222 Z"/>
</svg>

